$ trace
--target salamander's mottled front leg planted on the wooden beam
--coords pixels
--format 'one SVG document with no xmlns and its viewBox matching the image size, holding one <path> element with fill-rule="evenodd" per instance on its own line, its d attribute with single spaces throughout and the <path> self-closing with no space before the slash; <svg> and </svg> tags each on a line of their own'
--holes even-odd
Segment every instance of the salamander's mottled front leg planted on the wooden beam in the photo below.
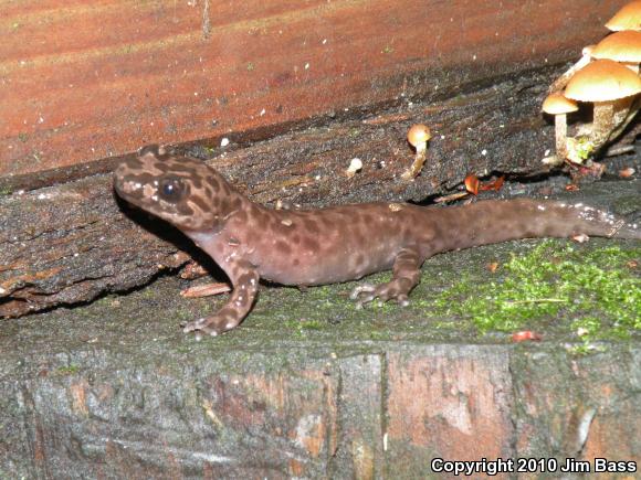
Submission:
<svg viewBox="0 0 641 480">
<path fill-rule="evenodd" d="M 212 337 L 231 330 L 246 317 L 252 309 L 259 291 L 259 274 L 245 260 L 239 260 L 229 266 L 230 280 L 233 291 L 227 303 L 210 317 L 189 322 L 183 332 L 199 331 Z M 197 335 L 200 339 L 200 335 Z"/>
</svg>

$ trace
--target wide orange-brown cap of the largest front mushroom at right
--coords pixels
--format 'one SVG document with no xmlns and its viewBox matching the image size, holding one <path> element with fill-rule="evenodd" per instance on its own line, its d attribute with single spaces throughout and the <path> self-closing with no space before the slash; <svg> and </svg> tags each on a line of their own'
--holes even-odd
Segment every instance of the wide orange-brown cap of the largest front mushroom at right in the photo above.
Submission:
<svg viewBox="0 0 641 480">
<path fill-rule="evenodd" d="M 597 60 L 570 78 L 565 96 L 579 102 L 612 102 L 639 92 L 641 79 L 634 72 L 612 60 Z"/>
</svg>

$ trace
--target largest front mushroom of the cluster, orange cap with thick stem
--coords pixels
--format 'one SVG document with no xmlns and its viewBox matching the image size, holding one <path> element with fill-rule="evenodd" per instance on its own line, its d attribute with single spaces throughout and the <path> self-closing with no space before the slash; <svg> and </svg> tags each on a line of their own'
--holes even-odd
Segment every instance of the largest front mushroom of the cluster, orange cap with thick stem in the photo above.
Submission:
<svg viewBox="0 0 641 480">
<path fill-rule="evenodd" d="M 611 60 L 597 60 L 570 78 L 565 96 L 595 104 L 590 139 L 598 148 L 613 128 L 614 103 L 641 92 L 641 79 L 630 68 Z"/>
</svg>

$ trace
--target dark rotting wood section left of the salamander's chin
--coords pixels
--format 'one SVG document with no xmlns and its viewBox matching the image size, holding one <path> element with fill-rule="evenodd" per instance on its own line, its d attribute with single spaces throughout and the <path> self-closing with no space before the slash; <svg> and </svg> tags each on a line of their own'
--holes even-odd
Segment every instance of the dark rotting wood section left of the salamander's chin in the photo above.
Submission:
<svg viewBox="0 0 641 480">
<path fill-rule="evenodd" d="M 0 316 L 91 300 L 186 262 L 120 214 L 105 175 L 1 203 Z"/>
</svg>

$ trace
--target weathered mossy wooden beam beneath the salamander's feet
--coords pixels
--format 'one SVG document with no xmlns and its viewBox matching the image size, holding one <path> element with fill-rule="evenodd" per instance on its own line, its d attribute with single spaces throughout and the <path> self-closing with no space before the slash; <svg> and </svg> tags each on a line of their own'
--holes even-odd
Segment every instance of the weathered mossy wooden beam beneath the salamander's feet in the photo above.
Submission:
<svg viewBox="0 0 641 480">
<path fill-rule="evenodd" d="M 454 269 L 484 281 L 481 260 L 466 263 Z M 176 284 L 4 322 L 1 478 L 419 479 L 437 478 L 439 457 L 641 461 L 638 340 L 572 354 L 565 317 L 514 348 L 425 307 L 353 316 L 333 288 L 271 289 L 262 314 L 195 342 L 177 322 L 203 305 Z"/>
</svg>

